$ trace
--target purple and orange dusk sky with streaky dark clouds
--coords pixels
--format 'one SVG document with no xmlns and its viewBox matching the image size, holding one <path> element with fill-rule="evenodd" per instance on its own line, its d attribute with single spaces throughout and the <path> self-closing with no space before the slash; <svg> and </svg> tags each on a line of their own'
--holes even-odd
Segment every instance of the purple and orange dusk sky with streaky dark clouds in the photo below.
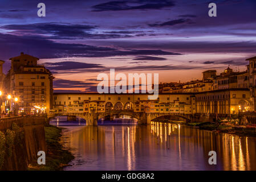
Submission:
<svg viewBox="0 0 256 182">
<path fill-rule="evenodd" d="M 99 73 L 159 73 L 159 81 L 201 79 L 228 65 L 245 71 L 256 56 L 256 1 L 1 0 L 0 60 L 39 57 L 55 90 L 95 91 Z M 37 16 L 38 3 L 46 17 Z"/>
</svg>

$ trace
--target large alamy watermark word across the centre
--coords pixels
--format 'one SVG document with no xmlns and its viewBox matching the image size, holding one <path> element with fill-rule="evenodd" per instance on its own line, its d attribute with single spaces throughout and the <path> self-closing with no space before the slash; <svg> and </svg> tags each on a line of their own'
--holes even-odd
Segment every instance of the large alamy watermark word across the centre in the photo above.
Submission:
<svg viewBox="0 0 256 182">
<path fill-rule="evenodd" d="M 115 75 L 115 69 L 110 69 L 110 79 L 106 73 L 100 73 L 97 76 L 98 93 L 149 93 L 149 100 L 156 100 L 159 96 L 159 74 L 154 73 L 154 86 L 152 88 L 152 73 L 128 73 L 128 85 L 127 76 L 124 73 L 118 73 Z M 134 82 L 133 82 L 134 80 Z M 140 83 L 141 80 L 141 83 Z M 115 84 L 115 81 L 117 84 Z M 134 85 L 134 88 L 133 88 Z"/>
</svg>

